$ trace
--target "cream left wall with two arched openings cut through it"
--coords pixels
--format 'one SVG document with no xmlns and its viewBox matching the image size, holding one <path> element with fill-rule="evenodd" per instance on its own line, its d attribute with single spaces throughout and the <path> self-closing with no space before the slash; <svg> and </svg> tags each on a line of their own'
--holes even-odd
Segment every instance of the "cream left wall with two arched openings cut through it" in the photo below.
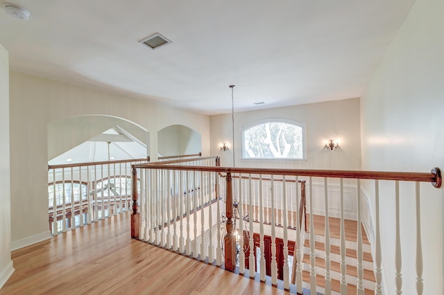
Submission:
<svg viewBox="0 0 444 295">
<path fill-rule="evenodd" d="M 124 118 L 146 128 L 152 161 L 157 159 L 157 131 L 169 125 L 199 132 L 202 152 L 210 154 L 208 116 L 10 71 L 12 249 L 49 238 L 48 125 L 92 114 Z"/>
</svg>

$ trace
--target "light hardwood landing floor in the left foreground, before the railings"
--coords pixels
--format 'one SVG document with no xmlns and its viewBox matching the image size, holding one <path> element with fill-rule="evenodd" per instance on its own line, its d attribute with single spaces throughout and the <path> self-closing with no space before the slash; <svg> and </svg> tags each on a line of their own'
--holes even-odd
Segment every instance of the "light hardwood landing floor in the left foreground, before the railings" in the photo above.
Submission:
<svg viewBox="0 0 444 295">
<path fill-rule="evenodd" d="M 0 294 L 289 294 L 130 238 L 117 215 L 12 252 Z"/>
</svg>

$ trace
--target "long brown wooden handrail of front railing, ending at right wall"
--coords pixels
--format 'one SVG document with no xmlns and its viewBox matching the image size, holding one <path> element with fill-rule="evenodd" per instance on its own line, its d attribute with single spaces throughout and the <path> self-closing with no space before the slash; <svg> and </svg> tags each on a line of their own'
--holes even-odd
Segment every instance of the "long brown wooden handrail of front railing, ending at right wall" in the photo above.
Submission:
<svg viewBox="0 0 444 295">
<path fill-rule="evenodd" d="M 273 169 L 273 168 L 232 168 L 210 166 L 165 166 L 160 163 L 133 164 L 133 168 L 151 168 L 167 170 L 192 170 L 204 172 L 241 173 L 252 175 L 294 175 L 311 177 L 332 177 L 350 179 L 377 179 L 430 182 L 435 188 L 441 188 L 442 177 L 439 168 L 431 172 L 386 172 L 359 170 L 305 170 L 305 169 Z"/>
</svg>

